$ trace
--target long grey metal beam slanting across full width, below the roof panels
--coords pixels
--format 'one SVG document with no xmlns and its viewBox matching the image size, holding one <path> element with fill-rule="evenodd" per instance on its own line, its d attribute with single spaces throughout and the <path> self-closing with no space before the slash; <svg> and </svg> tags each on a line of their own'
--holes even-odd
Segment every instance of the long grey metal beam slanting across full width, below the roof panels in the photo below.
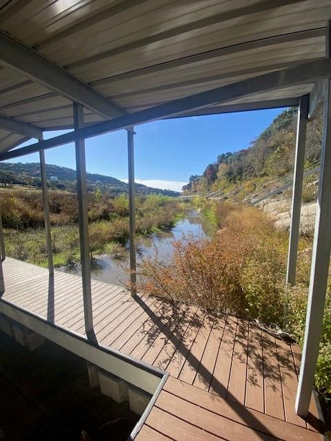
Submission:
<svg viewBox="0 0 331 441">
<path fill-rule="evenodd" d="M 41 143 L 32 144 L 28 147 L 0 154 L 0 161 L 10 158 L 17 158 L 25 154 L 39 152 L 41 149 L 57 147 L 58 145 L 72 143 L 77 139 L 92 138 L 99 134 L 114 132 L 134 125 L 147 123 L 157 119 L 174 116 L 188 112 L 189 110 L 207 107 L 216 103 L 225 103 L 243 96 L 249 96 L 258 92 L 268 90 L 288 88 L 294 85 L 312 83 L 318 79 L 323 79 L 331 74 L 331 60 L 321 59 L 294 66 L 292 68 L 277 70 L 269 74 L 254 76 L 254 78 L 245 79 L 219 88 L 199 92 L 198 94 L 185 96 L 168 103 L 149 107 L 139 112 L 134 112 L 111 121 L 90 125 L 74 132 L 55 136 L 51 139 L 41 141 Z M 284 99 L 285 100 L 285 99 Z"/>
</svg>

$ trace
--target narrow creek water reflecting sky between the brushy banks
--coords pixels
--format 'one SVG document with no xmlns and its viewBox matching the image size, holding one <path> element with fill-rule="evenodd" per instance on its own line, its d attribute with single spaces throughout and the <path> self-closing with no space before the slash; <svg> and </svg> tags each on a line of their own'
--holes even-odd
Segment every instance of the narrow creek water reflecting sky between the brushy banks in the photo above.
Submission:
<svg viewBox="0 0 331 441">
<path fill-rule="evenodd" d="M 172 255 L 172 242 L 185 236 L 205 238 L 213 232 L 213 226 L 202 213 L 192 210 L 168 231 L 148 234 L 137 239 L 137 263 L 143 258 L 154 256 L 168 260 Z M 124 286 L 128 280 L 129 265 L 128 245 L 114 255 L 102 255 L 91 263 L 91 278 L 113 285 Z M 81 275 L 79 265 L 63 268 L 64 271 Z"/>
</svg>

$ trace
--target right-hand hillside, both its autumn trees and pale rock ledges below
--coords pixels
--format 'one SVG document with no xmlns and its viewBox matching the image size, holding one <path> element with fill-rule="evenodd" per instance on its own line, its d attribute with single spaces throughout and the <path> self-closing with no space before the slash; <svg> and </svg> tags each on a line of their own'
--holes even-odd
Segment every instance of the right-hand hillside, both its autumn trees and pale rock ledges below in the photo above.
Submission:
<svg viewBox="0 0 331 441">
<path fill-rule="evenodd" d="M 276 225 L 288 228 L 296 131 L 297 110 L 290 108 L 279 114 L 248 148 L 220 154 L 214 163 L 205 167 L 201 176 L 191 176 L 188 185 L 183 187 L 183 194 L 243 203 L 262 199 L 257 205 L 275 218 Z M 314 228 L 321 133 L 322 115 L 319 114 L 307 128 L 301 211 L 303 234 L 310 234 Z"/>
</svg>

